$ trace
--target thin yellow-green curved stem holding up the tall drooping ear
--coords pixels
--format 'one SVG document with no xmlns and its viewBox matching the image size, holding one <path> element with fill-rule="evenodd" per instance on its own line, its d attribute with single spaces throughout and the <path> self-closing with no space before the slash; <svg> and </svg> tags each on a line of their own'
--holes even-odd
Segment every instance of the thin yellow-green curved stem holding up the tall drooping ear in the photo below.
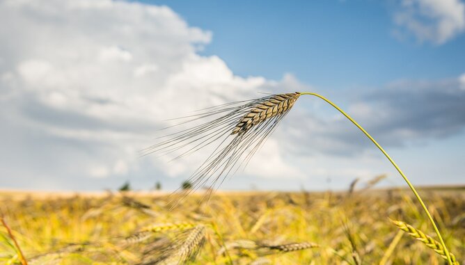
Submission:
<svg viewBox="0 0 465 265">
<path fill-rule="evenodd" d="M 365 129 L 363 129 L 363 127 L 358 125 L 358 123 L 354 119 L 352 119 L 352 117 L 350 117 L 347 113 L 345 113 L 345 111 L 342 111 L 342 109 L 340 109 L 336 104 L 331 102 L 329 99 L 326 99 L 326 97 L 323 97 L 322 95 L 318 95 L 317 93 L 310 93 L 310 92 L 304 92 L 304 93 L 300 93 L 300 94 L 301 95 L 312 95 L 312 96 L 315 96 L 315 97 L 320 97 L 320 99 L 323 99 L 325 102 L 329 103 L 331 106 L 333 106 L 335 109 L 337 109 L 340 113 L 342 113 L 342 115 L 345 115 L 345 117 L 347 119 L 349 119 L 356 127 L 358 127 L 358 129 L 363 131 L 363 134 L 365 134 L 365 136 L 370 138 L 370 140 L 378 147 L 378 149 L 381 150 L 381 152 L 384 154 L 384 156 L 386 156 L 386 158 L 393 164 L 394 168 L 404 178 L 405 182 L 407 182 L 407 184 L 409 185 L 409 188 L 411 189 L 413 194 L 415 194 L 416 199 L 418 200 L 418 202 L 420 202 L 421 207 L 423 207 L 423 210 L 425 210 L 425 213 L 428 216 L 429 222 L 431 222 L 431 224 L 434 227 L 434 231 L 436 232 L 436 234 L 437 234 L 437 236 L 439 238 L 439 241 L 441 242 L 441 245 L 444 248 L 444 252 L 446 253 L 446 257 L 448 259 L 449 264 L 453 265 L 452 259 L 450 259 L 449 251 L 448 251 L 448 249 L 446 247 L 446 243 L 444 243 L 443 238 L 441 236 L 441 233 L 439 232 L 438 227 L 436 226 L 436 223 L 434 223 L 434 220 L 433 220 L 431 214 L 429 214 L 429 211 L 428 211 L 425 203 L 423 202 L 423 200 L 421 200 L 420 195 L 418 195 L 418 192 L 416 191 L 415 187 L 413 187 L 413 185 L 410 183 L 409 179 L 407 179 L 407 176 L 404 175 L 404 172 L 402 172 L 402 170 L 400 170 L 399 166 L 397 166 L 397 164 L 393 161 L 393 159 L 391 159 L 391 156 L 389 156 L 388 153 L 386 153 L 386 151 L 384 151 L 383 147 L 381 147 L 381 145 L 379 145 L 379 143 L 377 143 L 377 141 L 374 138 L 372 138 L 372 136 L 370 136 L 370 134 L 368 134 L 368 132 L 365 131 Z"/>
</svg>

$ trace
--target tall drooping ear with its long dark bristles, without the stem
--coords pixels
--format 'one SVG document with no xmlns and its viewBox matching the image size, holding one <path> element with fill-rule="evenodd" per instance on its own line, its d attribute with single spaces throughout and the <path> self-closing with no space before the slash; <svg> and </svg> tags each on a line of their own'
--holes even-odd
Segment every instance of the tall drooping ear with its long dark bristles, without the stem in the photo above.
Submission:
<svg viewBox="0 0 465 265">
<path fill-rule="evenodd" d="M 205 162 L 189 177 L 188 181 L 192 184 L 192 189 L 184 191 L 184 195 L 203 186 L 214 191 L 216 185 L 221 184 L 222 179 L 246 166 L 300 95 L 301 93 L 298 92 L 268 95 L 259 99 L 232 102 L 205 109 L 205 112 L 191 115 L 190 120 L 178 125 L 204 118 L 212 118 L 212 120 L 162 136 L 161 138 L 166 137 L 166 140 L 145 148 L 143 154 L 155 152 L 166 155 L 176 152 L 178 156 L 173 159 L 180 159 L 208 145 L 219 143 Z M 216 115 L 221 116 L 215 118 Z M 173 204 L 178 202 L 179 200 L 173 200 Z M 173 204 L 171 207 L 174 206 Z"/>
</svg>

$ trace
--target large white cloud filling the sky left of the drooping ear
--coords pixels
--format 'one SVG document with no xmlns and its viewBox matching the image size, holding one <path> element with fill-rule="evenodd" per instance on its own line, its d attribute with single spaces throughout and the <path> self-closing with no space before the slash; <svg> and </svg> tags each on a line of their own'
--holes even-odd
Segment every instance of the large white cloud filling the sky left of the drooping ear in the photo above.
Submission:
<svg viewBox="0 0 465 265">
<path fill-rule="evenodd" d="M 85 188 L 82 177 L 136 177 L 150 170 L 187 177 L 203 156 L 168 166 L 169 157 L 136 159 L 161 121 L 279 85 L 237 77 L 221 58 L 196 54 L 212 33 L 189 26 L 166 6 L 2 1 L 0 17 L 0 121 L 15 128 L 0 138 L 16 138 L 9 144 L 37 163 L 14 168 L 24 163 L 19 154 L 15 163 L 0 161 L 8 172 L 22 172 L 15 176 L 18 185 L 36 175 L 68 179 L 68 188 Z M 282 156 L 274 152 L 274 172 L 287 172 Z"/>
</svg>

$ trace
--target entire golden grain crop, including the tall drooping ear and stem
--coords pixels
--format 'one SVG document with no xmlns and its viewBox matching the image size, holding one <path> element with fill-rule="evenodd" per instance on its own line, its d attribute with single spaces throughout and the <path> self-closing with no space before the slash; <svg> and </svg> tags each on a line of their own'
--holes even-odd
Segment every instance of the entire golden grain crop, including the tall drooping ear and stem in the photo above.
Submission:
<svg viewBox="0 0 465 265">
<path fill-rule="evenodd" d="M 225 177 L 249 163 L 303 95 L 323 99 L 356 125 L 397 169 L 413 197 L 403 190 L 370 193 L 385 176 L 375 177 L 365 188 L 356 188 L 356 179 L 347 193 L 212 195 Z M 430 192 L 431 214 L 416 188 L 376 140 L 321 95 L 268 95 L 205 109 L 183 119 L 179 126 L 210 120 L 168 134 L 143 154 L 174 154 L 174 159 L 180 159 L 216 145 L 187 180 L 188 188 L 167 196 L 140 196 L 127 190 L 104 198 L 77 195 L 11 201 L 7 196 L 0 210 L 8 216 L 11 228 L 2 218 L 0 260 L 23 265 L 358 265 L 439 264 L 440 259 L 446 259 L 455 265 L 465 254 L 465 216 L 460 210 L 465 209 L 463 188 Z M 203 186 L 207 189 L 198 191 Z M 386 213 L 379 209 L 386 209 Z M 422 232 L 427 227 L 420 211 L 427 215 L 439 241 Z M 388 218 L 395 220 L 399 232 L 392 232 Z M 400 221 L 406 219 L 413 220 L 413 225 Z M 444 238 L 455 255 L 446 247 L 434 219 L 446 231 Z M 452 238 L 445 228 L 462 240 Z M 403 231 L 434 252 L 428 255 L 418 250 L 418 244 L 403 243 Z"/>
</svg>

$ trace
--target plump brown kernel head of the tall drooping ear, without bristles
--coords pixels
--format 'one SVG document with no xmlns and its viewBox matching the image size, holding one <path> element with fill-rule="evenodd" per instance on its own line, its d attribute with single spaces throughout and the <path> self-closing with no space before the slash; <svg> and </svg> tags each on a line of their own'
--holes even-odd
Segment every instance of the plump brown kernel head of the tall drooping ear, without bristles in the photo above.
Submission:
<svg viewBox="0 0 465 265">
<path fill-rule="evenodd" d="M 239 120 L 236 127 L 232 129 L 231 134 L 244 134 L 254 125 L 258 125 L 271 117 L 281 115 L 281 113 L 291 109 L 299 97 L 300 93 L 298 92 L 287 93 L 274 95 L 263 102 L 259 102 Z"/>
</svg>

